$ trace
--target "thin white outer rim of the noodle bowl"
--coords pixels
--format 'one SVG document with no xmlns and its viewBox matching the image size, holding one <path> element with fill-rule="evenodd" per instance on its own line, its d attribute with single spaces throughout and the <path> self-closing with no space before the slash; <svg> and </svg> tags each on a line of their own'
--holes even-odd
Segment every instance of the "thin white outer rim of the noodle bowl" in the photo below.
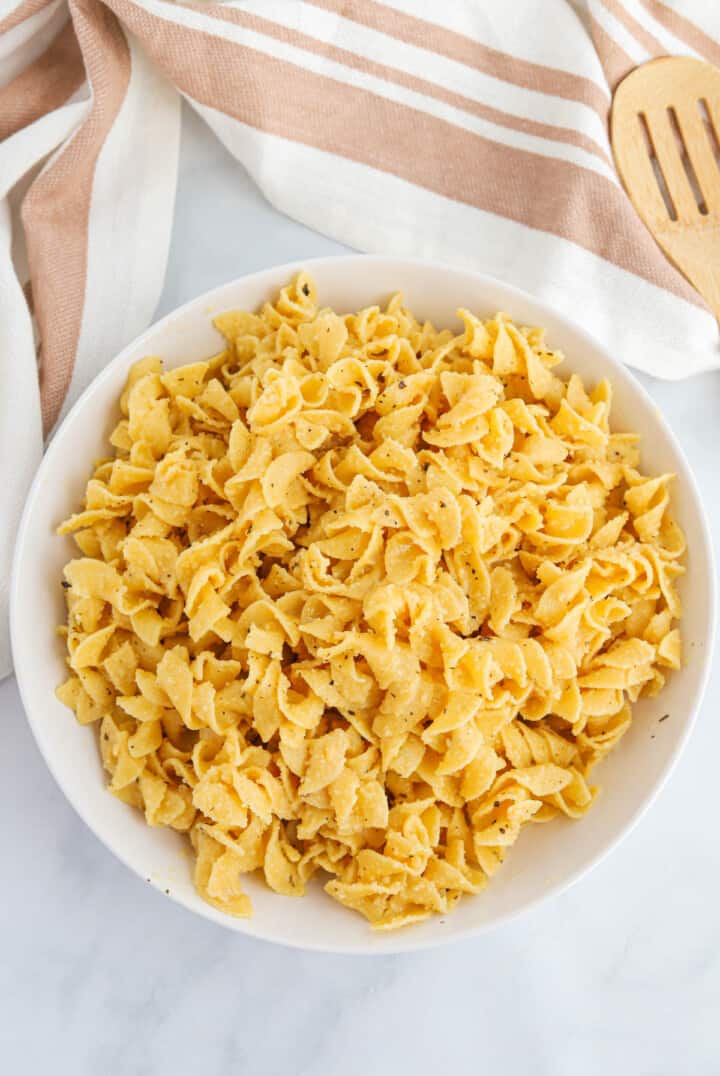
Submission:
<svg viewBox="0 0 720 1076">
<path fill-rule="evenodd" d="M 262 284 L 263 278 L 267 277 L 268 280 L 277 279 L 278 277 L 284 275 L 290 278 L 294 273 L 300 270 L 308 270 L 310 273 L 313 272 L 315 267 L 325 268 L 337 264 L 339 261 L 356 261 L 366 265 L 368 270 L 371 271 L 371 266 L 373 263 L 382 264 L 383 266 L 394 265 L 398 268 L 398 271 L 404 267 L 411 268 L 413 270 L 427 270 L 429 272 L 449 272 L 462 274 L 466 278 L 471 278 L 479 288 L 484 287 L 499 287 L 510 298 L 517 298 L 521 303 L 530 303 L 532 306 L 541 309 L 547 312 L 559 325 L 563 328 L 568 329 L 575 334 L 583 343 L 585 343 L 591 349 L 599 351 L 604 358 L 611 365 L 615 371 L 619 371 L 619 380 L 629 381 L 634 391 L 638 393 L 646 404 L 648 404 L 655 412 L 659 424 L 662 428 L 663 436 L 668 441 L 673 449 L 675 456 L 677 457 L 679 464 L 682 467 L 682 481 L 686 484 L 691 499 L 694 502 L 694 508 L 697 514 L 697 520 L 700 523 L 698 533 L 702 536 L 702 551 L 701 554 L 705 558 L 708 569 L 709 579 L 707 583 L 707 640 L 704 648 L 703 664 L 701 671 L 697 677 L 697 684 L 690 700 L 690 705 L 687 709 L 687 718 L 684 721 L 684 727 L 679 735 L 677 744 L 667 759 L 664 767 L 660 770 L 660 774 L 650 788 L 645 797 L 640 801 L 638 806 L 629 816 L 625 822 L 618 829 L 615 836 L 609 839 L 597 852 L 593 855 L 587 863 L 582 864 L 580 867 L 564 876 L 563 878 L 548 884 L 541 892 L 538 892 L 535 896 L 526 901 L 520 907 L 500 912 L 495 916 L 490 921 L 480 922 L 477 924 L 470 924 L 463 928 L 462 930 L 442 936 L 438 934 L 437 937 L 423 938 L 422 940 L 413 940 L 412 931 L 399 931 L 395 932 L 391 937 L 392 940 L 387 944 L 387 936 L 385 936 L 384 944 L 381 949 L 376 949 L 372 947 L 373 934 L 368 929 L 367 944 L 363 945 L 343 945 L 343 944 L 327 944 L 321 942 L 307 942 L 295 939 L 292 934 L 284 936 L 278 936 L 278 932 L 273 930 L 265 930 L 259 918 L 248 919 L 237 919 L 230 916 L 226 916 L 218 909 L 212 907 L 211 905 L 202 902 L 201 905 L 195 906 L 190 905 L 188 901 L 184 898 L 182 893 L 178 892 L 175 889 L 171 890 L 169 893 L 163 888 L 159 882 L 156 882 L 152 877 L 146 878 L 145 873 L 140 869 L 140 867 L 132 861 L 132 858 L 126 853 L 125 847 L 122 840 L 116 840 L 113 836 L 107 836 L 99 832 L 99 826 L 96 825 L 95 820 L 88 818 L 87 815 L 81 809 L 77 804 L 76 797 L 74 795 L 72 787 L 69 787 L 60 778 L 58 770 L 55 766 L 55 760 L 45 752 L 42 745 L 42 733 L 41 733 L 41 722 L 38 720 L 37 714 L 32 712 L 32 708 L 28 705 L 28 694 L 24 685 L 25 676 L 25 645 L 19 638 L 19 628 L 17 626 L 18 615 L 16 614 L 16 609 L 22 600 L 20 598 L 20 570 L 19 564 L 22 560 L 23 549 L 26 544 L 26 535 L 30 529 L 31 520 L 33 516 L 33 509 L 36 501 L 38 499 L 39 493 L 42 489 L 42 484 L 45 478 L 45 470 L 50 466 L 48 461 L 52 458 L 54 453 L 58 451 L 58 445 L 61 444 L 66 431 L 73 425 L 79 414 L 84 410 L 85 401 L 91 396 L 105 380 L 112 377 L 114 371 L 123 366 L 127 365 L 130 358 L 130 353 L 135 352 L 138 348 L 142 346 L 145 340 L 150 340 L 156 332 L 161 331 L 166 327 L 169 327 L 175 320 L 190 314 L 195 310 L 195 314 L 200 314 L 203 317 L 209 317 L 208 308 L 213 308 L 221 299 L 223 293 L 232 291 L 234 288 L 248 284 L 250 282 Z M 369 291 L 371 289 L 371 279 L 369 279 Z M 71 807 L 75 813 L 81 818 L 88 830 L 94 834 L 94 836 L 126 867 L 128 867 L 138 878 L 144 881 L 150 881 L 150 883 L 157 889 L 169 900 L 173 901 L 175 904 L 181 905 L 188 912 L 201 916 L 203 919 L 210 922 L 216 923 L 226 930 L 230 930 L 236 934 L 241 934 L 246 937 L 270 942 L 274 945 L 281 945 L 287 948 L 297 949 L 307 952 L 323 952 L 323 953 L 334 953 L 342 955 L 362 955 L 362 957 L 383 957 L 399 952 L 415 952 L 426 949 L 435 949 L 439 946 L 449 945 L 453 943 L 460 943 L 467 938 L 477 937 L 481 934 L 485 934 L 490 931 L 495 930 L 498 926 L 505 925 L 519 919 L 521 916 L 528 914 L 531 910 L 537 908 L 540 904 L 546 903 L 551 897 L 559 896 L 564 893 L 570 887 L 575 886 L 582 878 L 591 873 L 602 861 L 604 861 L 615 849 L 635 829 L 635 826 L 645 817 L 646 812 L 654 804 L 657 797 L 660 795 L 661 791 L 667 784 L 667 781 L 672 777 L 680 756 L 682 755 L 688 740 L 695 727 L 695 722 L 697 721 L 697 716 L 705 696 L 707 689 L 707 683 L 709 680 L 711 671 L 711 657 L 715 648 L 715 636 L 717 627 L 717 583 L 716 583 L 716 563 L 715 563 L 715 550 L 711 538 L 711 532 L 709 527 L 709 522 L 707 514 L 705 512 L 705 507 L 703 504 L 703 498 L 701 496 L 701 491 L 697 485 L 697 480 L 693 473 L 693 470 L 688 463 L 686 454 L 682 447 L 670 428 L 664 414 L 658 409 L 653 398 L 647 392 L 645 386 L 635 377 L 633 370 L 629 369 L 626 366 L 621 364 L 613 355 L 606 349 L 606 346 L 601 343 L 591 332 L 589 332 L 583 326 L 579 325 L 573 318 L 568 317 L 566 314 L 562 313 L 552 303 L 547 302 L 543 299 L 537 298 L 522 288 L 516 287 L 512 284 L 506 283 L 504 280 L 494 277 L 490 273 L 483 273 L 474 269 L 468 269 L 463 266 L 454 266 L 446 261 L 438 259 L 423 259 L 423 258 L 407 258 L 394 255 L 376 255 L 376 254 L 340 254 L 340 255 L 327 255 L 323 257 L 315 258 L 296 258 L 292 261 L 283 263 L 277 266 L 270 266 L 265 269 L 259 269 L 253 272 L 243 273 L 242 275 L 235 278 L 231 281 L 227 281 L 224 284 L 216 285 L 200 295 L 195 296 L 183 302 L 181 306 L 174 308 L 169 313 L 165 314 L 161 318 L 153 322 L 147 326 L 139 336 L 130 340 L 116 355 L 114 355 L 98 373 L 89 381 L 89 383 L 82 391 L 77 399 L 74 401 L 72 407 L 68 410 L 67 414 L 58 423 L 56 428 L 52 431 L 45 447 L 42 461 L 33 480 L 28 490 L 25 506 L 23 509 L 23 514 L 20 518 L 20 523 L 17 528 L 15 547 L 13 552 L 13 561 L 11 568 L 11 581 L 10 581 L 10 638 L 11 638 L 11 649 L 13 655 L 13 671 L 16 677 L 18 692 L 20 695 L 20 700 L 23 703 L 23 709 L 30 726 L 36 746 L 40 751 L 40 754 L 47 766 L 50 773 L 52 774 L 55 782 L 59 787 L 66 799 L 70 803 Z M 252 923 L 252 929 L 248 929 L 249 924 Z"/>
</svg>

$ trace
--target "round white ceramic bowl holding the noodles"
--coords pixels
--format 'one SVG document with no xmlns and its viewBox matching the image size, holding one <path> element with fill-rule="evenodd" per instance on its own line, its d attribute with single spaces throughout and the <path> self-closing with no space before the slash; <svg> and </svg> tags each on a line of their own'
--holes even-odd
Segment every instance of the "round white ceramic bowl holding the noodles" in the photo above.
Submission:
<svg viewBox="0 0 720 1076">
<path fill-rule="evenodd" d="M 590 383 L 609 378 L 615 428 L 643 435 L 650 471 L 677 473 L 674 509 L 689 544 L 681 589 L 684 667 L 658 698 L 636 706 L 631 731 L 597 770 L 604 791 L 591 812 L 581 822 L 526 829 L 486 892 L 464 898 L 448 917 L 395 934 L 372 934 L 319 884 L 305 898 L 292 900 L 248 878 L 255 908 L 251 920 L 231 919 L 204 904 L 193 888 L 184 838 L 150 829 L 138 811 L 105 791 L 95 732 L 77 725 L 53 694 L 65 675 L 63 645 L 55 634 L 63 619 L 60 574 L 74 555 L 71 539 L 56 537 L 55 528 L 77 508 L 91 461 L 108 452 L 128 368 L 147 354 L 161 355 L 170 368 L 211 355 L 221 345 L 212 314 L 254 309 L 303 265 L 317 281 L 321 302 L 338 311 L 382 301 L 401 289 L 418 315 L 440 326 L 460 324 L 458 307 L 483 315 L 504 310 L 525 324 L 547 326 L 552 346 L 567 355 L 561 372 L 577 371 Z M 392 258 L 323 258 L 254 273 L 188 302 L 126 348 L 77 400 L 45 454 L 17 537 L 11 600 L 15 670 L 36 740 L 58 784 L 96 836 L 141 878 L 186 908 L 254 937 L 334 952 L 424 948 L 486 930 L 557 893 L 606 855 L 648 807 L 677 761 L 705 686 L 714 626 L 711 560 L 697 490 L 677 441 L 634 378 L 582 329 L 522 292 L 476 273 Z M 665 713 L 669 718 L 660 722 Z"/>
</svg>

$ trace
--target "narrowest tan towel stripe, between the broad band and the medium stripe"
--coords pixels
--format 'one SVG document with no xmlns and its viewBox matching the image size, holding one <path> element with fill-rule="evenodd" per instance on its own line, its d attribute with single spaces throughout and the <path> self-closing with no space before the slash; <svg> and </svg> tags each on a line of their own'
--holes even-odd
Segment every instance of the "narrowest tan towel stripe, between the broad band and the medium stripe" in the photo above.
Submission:
<svg viewBox="0 0 720 1076">
<path fill-rule="evenodd" d="M 434 82 L 428 82 L 426 79 L 419 79 L 418 76 L 408 74 L 406 71 L 400 71 L 397 68 L 391 68 L 384 63 L 378 63 L 365 56 L 358 56 L 357 53 L 351 53 L 347 48 L 340 48 L 337 45 L 319 41 L 316 38 L 311 38 L 307 33 L 301 33 L 298 30 L 282 26 L 279 23 L 271 23 L 267 18 L 263 18 L 259 15 L 253 15 L 252 13 L 242 11 L 239 8 L 226 8 L 220 4 L 199 3 L 186 4 L 186 6 L 192 8 L 194 11 L 198 11 L 203 15 L 212 15 L 214 18 L 220 18 L 226 23 L 234 23 L 237 26 L 246 27 L 248 29 L 255 30 L 258 33 L 265 33 L 268 37 L 277 38 L 279 41 L 286 42 L 290 45 L 295 45 L 298 48 L 305 48 L 307 52 L 315 53 L 319 56 L 325 56 L 327 59 L 334 60 L 337 63 L 343 63 L 345 67 L 353 68 L 356 71 L 362 71 L 365 74 L 375 75 L 378 79 L 384 79 L 386 82 L 392 82 L 396 86 L 404 86 L 406 89 L 414 90 L 418 94 L 425 94 L 427 97 L 433 97 L 438 101 L 443 101 L 452 108 L 460 109 L 463 112 L 469 112 L 471 115 L 478 116 L 480 119 L 486 119 L 489 123 L 497 124 L 500 127 L 522 131 L 525 134 L 534 134 L 537 138 L 543 138 L 551 142 L 563 142 L 567 145 L 575 145 L 580 150 L 584 150 L 587 153 L 592 153 L 593 156 L 599 157 L 601 160 L 604 160 L 605 164 L 612 167 L 610 155 L 601 145 L 598 145 L 597 142 L 589 138 L 582 131 L 577 131 L 569 127 L 555 126 L 554 124 L 541 124 L 535 119 L 528 119 L 525 116 L 514 115 L 511 112 L 503 112 L 499 109 L 494 109 L 484 104 L 482 101 L 476 101 L 472 100 L 472 98 L 465 97 L 463 94 L 455 94 L 453 90 L 446 89 L 444 86 L 439 86 Z"/>
</svg>

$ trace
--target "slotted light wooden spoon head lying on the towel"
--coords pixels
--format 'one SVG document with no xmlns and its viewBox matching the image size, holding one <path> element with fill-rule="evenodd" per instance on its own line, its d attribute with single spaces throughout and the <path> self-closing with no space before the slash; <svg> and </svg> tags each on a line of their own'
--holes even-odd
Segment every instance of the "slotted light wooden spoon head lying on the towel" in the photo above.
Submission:
<svg viewBox="0 0 720 1076">
<path fill-rule="evenodd" d="M 688 56 L 636 68 L 610 138 L 637 212 L 720 320 L 720 70 Z"/>
</svg>

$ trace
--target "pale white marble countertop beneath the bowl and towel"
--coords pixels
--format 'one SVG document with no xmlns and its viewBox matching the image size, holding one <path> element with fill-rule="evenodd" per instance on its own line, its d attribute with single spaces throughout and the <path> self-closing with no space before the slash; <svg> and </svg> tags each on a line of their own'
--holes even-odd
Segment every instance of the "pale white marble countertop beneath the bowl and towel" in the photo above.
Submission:
<svg viewBox="0 0 720 1076">
<path fill-rule="evenodd" d="M 185 125 L 161 312 L 341 251 Z M 679 360 L 681 357 L 679 356 Z M 720 528 L 720 374 L 644 379 Z M 466 944 L 305 954 L 193 917 L 89 833 L 0 685 L 0 1070 L 14 1076 L 710 1076 L 720 1072 L 720 678 L 674 777 L 588 878 Z"/>
</svg>

